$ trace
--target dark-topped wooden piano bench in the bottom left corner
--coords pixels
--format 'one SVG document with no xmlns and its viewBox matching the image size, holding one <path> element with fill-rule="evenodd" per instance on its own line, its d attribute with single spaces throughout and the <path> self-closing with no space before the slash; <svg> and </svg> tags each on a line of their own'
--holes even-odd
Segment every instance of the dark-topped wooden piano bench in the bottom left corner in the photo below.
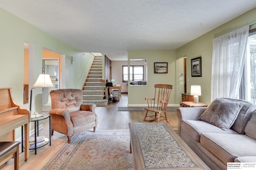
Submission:
<svg viewBox="0 0 256 170">
<path fill-rule="evenodd" d="M 20 142 L 0 142 L 0 162 L 14 154 L 14 170 L 19 169 Z"/>
</svg>

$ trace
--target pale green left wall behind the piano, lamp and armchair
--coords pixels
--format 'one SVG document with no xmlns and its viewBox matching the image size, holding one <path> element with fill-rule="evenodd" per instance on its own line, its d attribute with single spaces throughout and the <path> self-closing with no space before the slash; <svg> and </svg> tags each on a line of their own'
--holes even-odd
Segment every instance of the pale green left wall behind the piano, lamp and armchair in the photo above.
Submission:
<svg viewBox="0 0 256 170">
<path fill-rule="evenodd" d="M 63 59 L 66 61 L 65 70 L 62 70 L 66 73 L 63 85 L 66 88 L 82 88 L 83 82 L 79 84 L 79 80 L 84 70 L 88 71 L 86 66 L 90 66 L 88 63 L 92 61 L 92 55 L 81 53 L 2 8 L 0 8 L 0 21 L 0 88 L 12 87 L 12 95 L 16 104 L 29 109 L 29 104 L 23 105 L 24 42 L 34 45 L 34 52 L 30 51 L 34 54 L 34 59 L 30 61 L 29 90 L 38 74 L 42 72 L 43 48 L 63 55 Z M 75 57 L 73 65 L 68 56 Z M 42 93 L 34 90 L 33 94 L 35 94 L 35 100 L 32 105 L 32 113 L 35 110 L 42 111 Z M 33 125 L 30 127 L 32 129 Z M 18 132 L 20 131 L 17 131 L 17 135 L 19 135 Z"/>
</svg>

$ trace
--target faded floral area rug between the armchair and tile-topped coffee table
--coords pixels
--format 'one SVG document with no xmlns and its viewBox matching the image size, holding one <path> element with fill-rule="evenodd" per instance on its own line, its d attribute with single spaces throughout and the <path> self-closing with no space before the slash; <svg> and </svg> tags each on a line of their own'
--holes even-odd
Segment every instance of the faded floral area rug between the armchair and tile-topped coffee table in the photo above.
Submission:
<svg viewBox="0 0 256 170">
<path fill-rule="evenodd" d="M 129 130 L 73 135 L 43 170 L 133 170 Z"/>
</svg>

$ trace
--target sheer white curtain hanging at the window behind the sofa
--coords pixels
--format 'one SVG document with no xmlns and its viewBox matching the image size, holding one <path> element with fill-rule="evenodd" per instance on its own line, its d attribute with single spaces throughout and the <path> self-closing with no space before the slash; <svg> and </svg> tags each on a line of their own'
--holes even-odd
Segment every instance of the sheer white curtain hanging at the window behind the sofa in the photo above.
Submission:
<svg viewBox="0 0 256 170">
<path fill-rule="evenodd" d="M 239 98 L 249 25 L 213 40 L 211 100 Z"/>
</svg>

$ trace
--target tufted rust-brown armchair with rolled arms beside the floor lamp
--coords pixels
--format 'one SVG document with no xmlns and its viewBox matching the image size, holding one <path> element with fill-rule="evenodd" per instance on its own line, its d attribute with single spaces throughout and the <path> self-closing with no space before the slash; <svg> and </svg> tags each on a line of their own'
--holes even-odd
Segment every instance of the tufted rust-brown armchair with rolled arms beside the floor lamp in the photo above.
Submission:
<svg viewBox="0 0 256 170">
<path fill-rule="evenodd" d="M 51 115 L 52 135 L 54 131 L 65 134 L 68 143 L 73 134 L 94 128 L 98 124 L 95 104 L 83 104 L 82 90 L 58 89 L 50 92 L 52 100 Z"/>
</svg>

